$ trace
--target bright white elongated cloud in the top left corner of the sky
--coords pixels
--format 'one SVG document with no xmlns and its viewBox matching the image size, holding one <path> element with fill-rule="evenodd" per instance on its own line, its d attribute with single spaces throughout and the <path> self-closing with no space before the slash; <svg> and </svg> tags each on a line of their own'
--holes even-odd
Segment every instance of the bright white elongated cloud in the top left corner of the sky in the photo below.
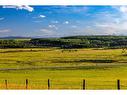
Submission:
<svg viewBox="0 0 127 95">
<path fill-rule="evenodd" d="M 5 5 L 5 6 L 3 6 L 3 8 L 13 8 L 13 9 L 17 9 L 17 10 L 27 10 L 29 12 L 34 11 L 34 8 L 30 7 L 28 5 Z"/>
</svg>

